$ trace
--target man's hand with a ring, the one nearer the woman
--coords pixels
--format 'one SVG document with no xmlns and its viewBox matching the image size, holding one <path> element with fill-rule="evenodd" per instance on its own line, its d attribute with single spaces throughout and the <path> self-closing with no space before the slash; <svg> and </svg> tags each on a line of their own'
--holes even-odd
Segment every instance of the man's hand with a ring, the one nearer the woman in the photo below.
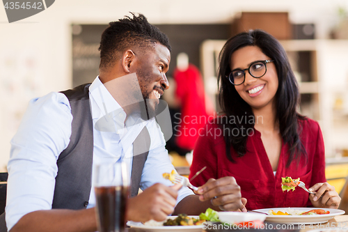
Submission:
<svg viewBox="0 0 348 232">
<path fill-rule="evenodd" d="M 240 187 L 232 176 L 209 179 L 205 185 L 198 187 L 197 192 L 200 194 L 200 201 L 210 200 L 213 206 L 219 206 L 221 210 L 246 212 L 246 199 L 242 203 Z"/>
</svg>

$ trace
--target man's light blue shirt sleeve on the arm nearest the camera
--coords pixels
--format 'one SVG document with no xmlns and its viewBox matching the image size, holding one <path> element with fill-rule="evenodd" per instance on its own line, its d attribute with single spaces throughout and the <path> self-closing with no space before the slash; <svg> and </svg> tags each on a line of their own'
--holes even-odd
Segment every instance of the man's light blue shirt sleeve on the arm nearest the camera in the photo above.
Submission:
<svg viewBox="0 0 348 232">
<path fill-rule="evenodd" d="M 56 161 L 69 144 L 71 122 L 70 104 L 62 93 L 49 93 L 29 103 L 11 140 L 6 199 L 8 230 L 24 215 L 52 208 Z"/>
</svg>

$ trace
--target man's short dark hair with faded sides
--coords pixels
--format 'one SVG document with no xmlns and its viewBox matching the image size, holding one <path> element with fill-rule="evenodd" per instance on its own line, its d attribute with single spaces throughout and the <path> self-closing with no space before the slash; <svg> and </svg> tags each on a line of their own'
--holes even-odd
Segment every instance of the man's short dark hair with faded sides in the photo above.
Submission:
<svg viewBox="0 0 348 232">
<path fill-rule="evenodd" d="M 109 27 L 102 33 L 99 47 L 100 68 L 110 68 L 126 49 L 134 46 L 147 49 L 159 42 L 171 51 L 165 33 L 150 24 L 144 15 L 132 15 L 133 18 L 125 16 L 124 19 L 110 22 Z"/>
</svg>

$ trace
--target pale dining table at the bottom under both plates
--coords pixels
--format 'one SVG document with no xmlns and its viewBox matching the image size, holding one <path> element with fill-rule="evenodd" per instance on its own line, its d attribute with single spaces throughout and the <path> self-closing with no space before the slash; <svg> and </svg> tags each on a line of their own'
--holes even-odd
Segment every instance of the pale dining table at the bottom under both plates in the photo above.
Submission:
<svg viewBox="0 0 348 232">
<path fill-rule="evenodd" d="M 328 229 L 336 230 L 346 230 L 348 231 L 348 215 L 338 215 L 329 219 L 328 222 L 322 224 L 276 224 L 265 221 L 264 224 L 272 225 L 268 226 L 267 229 L 202 229 L 201 232 L 230 232 L 230 231 L 240 231 L 240 232 L 306 232 L 306 231 L 326 231 Z M 277 226 L 278 225 L 278 226 Z M 273 229 L 269 229 L 272 227 Z M 279 228 L 279 229 L 277 229 Z M 139 228 L 126 228 L 125 232 L 144 232 L 145 230 Z M 178 230 L 180 232 L 180 230 Z"/>
</svg>

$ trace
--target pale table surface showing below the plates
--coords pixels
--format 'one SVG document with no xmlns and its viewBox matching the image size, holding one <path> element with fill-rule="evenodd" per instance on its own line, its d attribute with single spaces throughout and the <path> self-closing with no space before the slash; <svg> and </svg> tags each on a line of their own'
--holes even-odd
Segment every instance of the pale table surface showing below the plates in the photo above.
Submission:
<svg viewBox="0 0 348 232">
<path fill-rule="evenodd" d="M 329 222 L 326 222 L 324 224 L 313 224 L 313 225 L 306 225 L 301 226 L 298 229 L 294 230 L 283 230 L 283 231 L 299 231 L 299 232 L 306 232 L 314 229 L 345 229 L 348 230 L 348 215 L 339 215 L 334 217 L 333 219 L 330 219 Z M 142 229 L 134 229 L 134 228 L 127 228 L 125 232 L 143 232 Z M 228 230 L 223 230 L 228 231 Z M 238 230 L 230 230 L 230 231 L 238 231 Z M 255 230 L 256 231 L 256 230 Z M 277 231 L 277 230 L 258 230 L 258 231 Z M 280 231 L 280 230 L 278 230 Z M 202 230 L 202 232 L 205 232 L 205 230 Z M 252 232 L 252 231 L 251 231 Z"/>
</svg>

